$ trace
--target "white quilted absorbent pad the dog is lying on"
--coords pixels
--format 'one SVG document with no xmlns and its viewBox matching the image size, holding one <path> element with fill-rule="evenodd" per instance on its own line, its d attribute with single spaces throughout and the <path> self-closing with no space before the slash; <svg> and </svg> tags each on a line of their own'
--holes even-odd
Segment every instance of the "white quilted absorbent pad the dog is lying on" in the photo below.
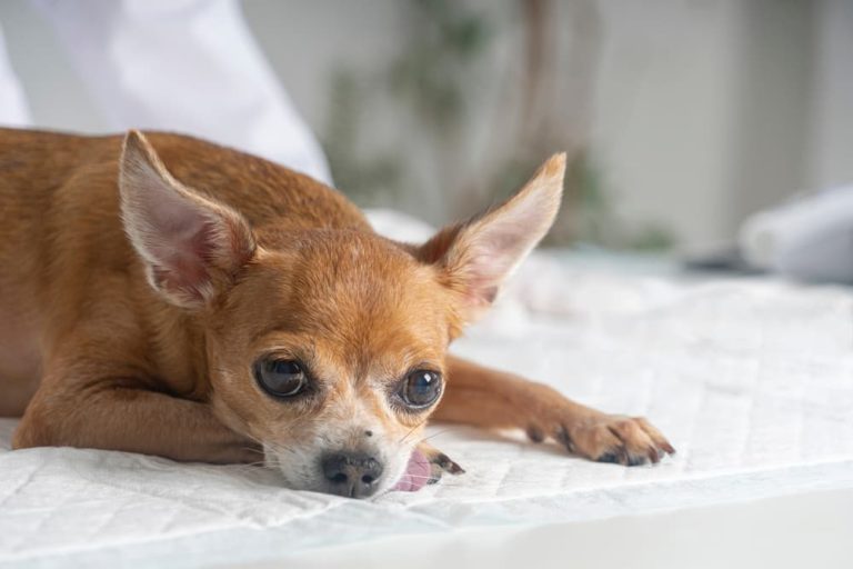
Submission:
<svg viewBox="0 0 853 569">
<path fill-rule="evenodd" d="M 591 406 L 646 416 L 675 457 L 626 469 L 436 426 L 431 442 L 468 473 L 353 501 L 283 489 L 258 468 L 11 452 L 16 422 L 0 420 L 0 565 L 268 560 L 401 533 L 853 487 L 850 290 L 616 278 L 542 258 L 524 274 L 514 295 L 535 301 L 511 295 L 456 352 Z"/>
</svg>

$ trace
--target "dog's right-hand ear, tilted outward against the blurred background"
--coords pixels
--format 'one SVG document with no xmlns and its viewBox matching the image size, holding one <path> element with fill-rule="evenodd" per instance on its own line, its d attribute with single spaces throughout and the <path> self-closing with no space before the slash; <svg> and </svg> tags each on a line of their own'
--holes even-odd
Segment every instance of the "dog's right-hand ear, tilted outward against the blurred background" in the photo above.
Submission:
<svg viewBox="0 0 853 569">
<path fill-rule="evenodd" d="M 439 231 L 418 254 L 434 263 L 459 299 L 460 325 L 475 320 L 501 283 L 545 236 L 560 209 L 565 154 L 551 157 L 512 198 Z"/>
</svg>

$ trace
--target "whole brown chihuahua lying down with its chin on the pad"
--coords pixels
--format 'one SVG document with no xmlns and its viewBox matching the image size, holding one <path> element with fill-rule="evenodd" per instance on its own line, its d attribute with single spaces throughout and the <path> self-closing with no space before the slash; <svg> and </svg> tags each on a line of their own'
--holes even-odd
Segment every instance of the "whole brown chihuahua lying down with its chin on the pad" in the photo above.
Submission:
<svg viewBox="0 0 853 569">
<path fill-rule="evenodd" d="M 545 234 L 565 157 L 422 246 L 337 191 L 189 137 L 0 129 L 0 416 L 13 447 L 257 462 L 364 498 L 461 469 L 428 418 L 631 466 L 642 418 L 446 355 Z"/>
</svg>

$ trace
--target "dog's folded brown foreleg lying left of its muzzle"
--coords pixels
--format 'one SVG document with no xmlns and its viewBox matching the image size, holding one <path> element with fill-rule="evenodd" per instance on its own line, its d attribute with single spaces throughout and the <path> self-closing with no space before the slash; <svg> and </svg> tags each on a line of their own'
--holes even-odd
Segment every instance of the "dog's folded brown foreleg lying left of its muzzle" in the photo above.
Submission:
<svg viewBox="0 0 853 569">
<path fill-rule="evenodd" d="M 47 379 L 47 378 L 46 378 Z M 201 462 L 259 462 L 260 448 L 220 422 L 210 406 L 128 381 L 43 383 L 12 440 L 16 449 L 70 446 Z"/>
</svg>

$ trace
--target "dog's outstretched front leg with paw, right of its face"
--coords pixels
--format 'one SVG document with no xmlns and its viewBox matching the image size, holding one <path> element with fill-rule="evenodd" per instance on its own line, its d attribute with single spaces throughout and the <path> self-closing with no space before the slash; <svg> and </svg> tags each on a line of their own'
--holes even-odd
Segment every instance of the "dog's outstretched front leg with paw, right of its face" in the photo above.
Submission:
<svg viewBox="0 0 853 569">
<path fill-rule="evenodd" d="M 542 383 L 452 356 L 444 397 L 432 417 L 490 429 L 522 429 L 535 442 L 552 438 L 569 451 L 600 462 L 634 466 L 675 452 L 643 418 L 603 413 Z"/>
</svg>

